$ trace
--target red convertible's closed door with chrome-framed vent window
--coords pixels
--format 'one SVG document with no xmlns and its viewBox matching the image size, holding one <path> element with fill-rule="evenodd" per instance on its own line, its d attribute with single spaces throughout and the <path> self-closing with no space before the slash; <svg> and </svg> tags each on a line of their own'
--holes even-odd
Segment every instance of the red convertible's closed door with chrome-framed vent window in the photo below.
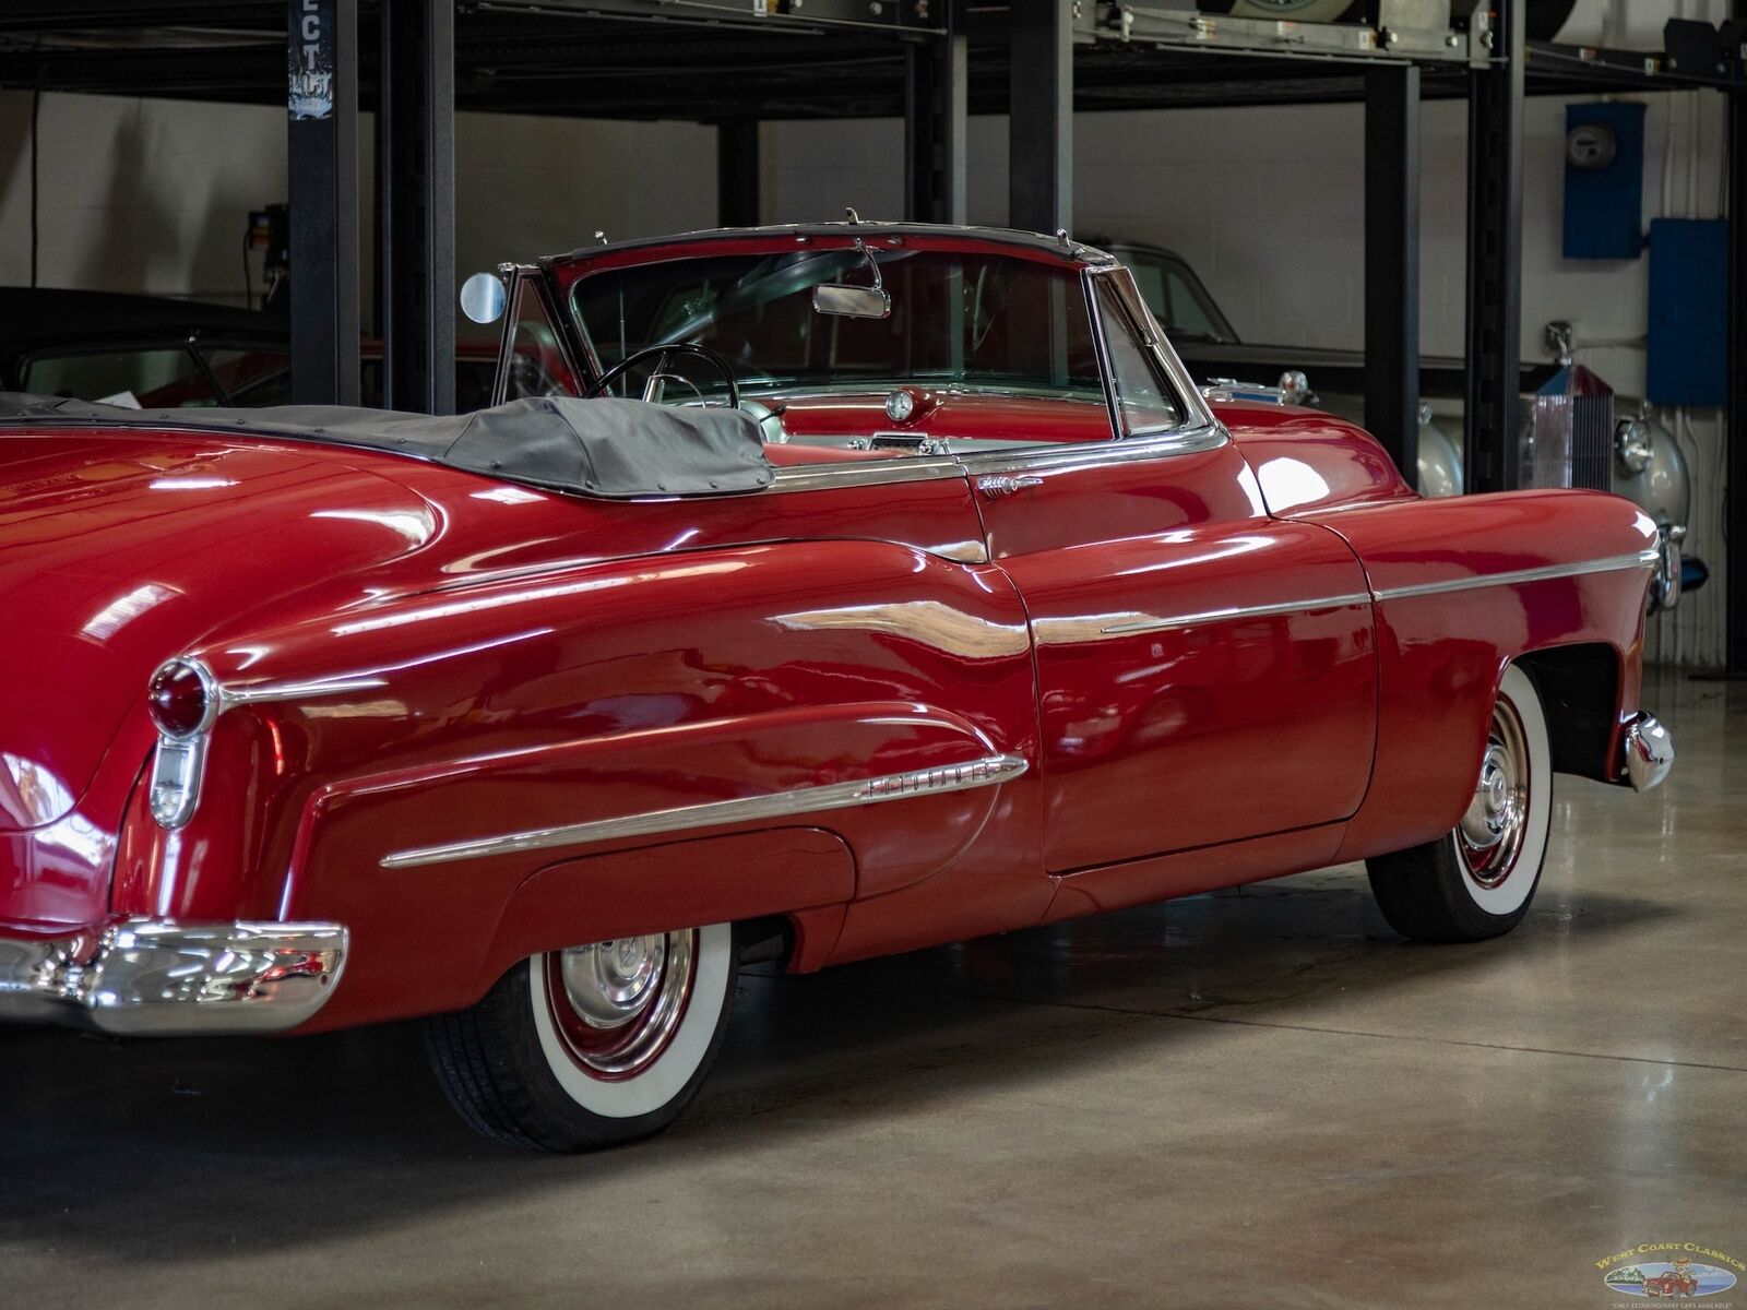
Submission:
<svg viewBox="0 0 1747 1310">
<path fill-rule="evenodd" d="M 1267 514 L 1125 279 L 1085 278 L 1120 435 L 964 461 L 1029 615 L 1053 873 L 1345 819 L 1375 744 L 1357 559 Z"/>
</svg>

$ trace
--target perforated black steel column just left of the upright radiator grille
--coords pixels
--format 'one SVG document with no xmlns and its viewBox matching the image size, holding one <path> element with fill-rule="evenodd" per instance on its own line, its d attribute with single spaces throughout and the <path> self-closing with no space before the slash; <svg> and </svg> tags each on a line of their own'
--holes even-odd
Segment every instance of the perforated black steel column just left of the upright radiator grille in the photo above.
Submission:
<svg viewBox="0 0 1747 1310">
<path fill-rule="evenodd" d="M 1525 0 L 1494 0 L 1495 63 L 1469 73 L 1467 87 L 1464 465 L 1469 491 L 1522 484 L 1516 391 L 1523 304 L 1523 5 Z"/>
</svg>

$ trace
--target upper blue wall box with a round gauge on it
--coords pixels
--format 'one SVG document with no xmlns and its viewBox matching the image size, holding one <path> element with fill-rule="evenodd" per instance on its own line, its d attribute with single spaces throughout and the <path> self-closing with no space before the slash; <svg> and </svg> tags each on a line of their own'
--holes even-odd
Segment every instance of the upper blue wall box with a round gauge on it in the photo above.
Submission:
<svg viewBox="0 0 1747 1310">
<path fill-rule="evenodd" d="M 1565 259 L 1644 250 L 1644 107 L 1565 105 Z"/>
</svg>

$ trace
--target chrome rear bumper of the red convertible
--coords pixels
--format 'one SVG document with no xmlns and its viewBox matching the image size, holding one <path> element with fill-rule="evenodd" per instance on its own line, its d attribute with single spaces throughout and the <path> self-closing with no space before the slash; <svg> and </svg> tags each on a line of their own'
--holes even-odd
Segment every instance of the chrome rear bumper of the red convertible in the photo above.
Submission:
<svg viewBox="0 0 1747 1310">
<path fill-rule="evenodd" d="M 341 924 L 176 924 L 0 938 L 0 1022 L 115 1036 L 280 1032 L 314 1015 L 346 966 Z"/>
</svg>

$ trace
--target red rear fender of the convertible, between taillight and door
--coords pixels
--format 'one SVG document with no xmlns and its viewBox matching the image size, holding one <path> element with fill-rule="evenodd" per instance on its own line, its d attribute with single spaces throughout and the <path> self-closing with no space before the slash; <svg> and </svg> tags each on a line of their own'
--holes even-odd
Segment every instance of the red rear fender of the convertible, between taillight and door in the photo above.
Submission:
<svg viewBox="0 0 1747 1310">
<path fill-rule="evenodd" d="M 236 667 L 236 652 L 253 662 Z M 342 690 L 222 714 L 189 826 L 164 833 L 136 807 L 115 908 L 346 924 L 346 985 L 323 1024 L 466 1004 L 496 968 L 500 924 L 493 952 L 547 948 L 935 877 L 992 831 L 1036 758 L 1012 585 L 877 541 L 590 564 L 225 634 L 196 653 L 220 681 Z M 832 789 L 846 783 L 874 791 Z M 830 858 L 791 887 L 784 872 L 777 891 L 704 894 L 756 861 L 697 838 L 797 824 L 853 851 L 853 877 Z M 1024 821 L 999 826 L 1017 842 L 1012 879 L 1036 842 Z M 638 856 L 632 882 L 594 863 L 674 842 L 671 865 Z M 1041 866 L 1034 879 L 1046 898 Z M 580 894 L 596 882 L 646 887 L 625 908 L 648 915 L 603 917 Z M 528 917 L 529 903 L 570 903 L 568 889 L 575 917 Z"/>
</svg>

